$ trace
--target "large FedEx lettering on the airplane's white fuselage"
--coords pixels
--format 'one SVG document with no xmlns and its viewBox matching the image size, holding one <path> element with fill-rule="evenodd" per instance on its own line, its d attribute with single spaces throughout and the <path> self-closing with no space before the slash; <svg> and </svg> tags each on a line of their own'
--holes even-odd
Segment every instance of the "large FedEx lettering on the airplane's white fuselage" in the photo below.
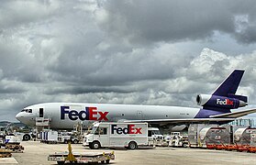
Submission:
<svg viewBox="0 0 256 165">
<path fill-rule="evenodd" d="M 108 121 L 108 112 L 97 111 L 97 107 L 85 107 L 85 110 L 76 111 L 70 109 L 70 106 L 61 106 L 61 120 L 67 116 L 71 120 L 95 120 L 95 121 Z"/>
</svg>

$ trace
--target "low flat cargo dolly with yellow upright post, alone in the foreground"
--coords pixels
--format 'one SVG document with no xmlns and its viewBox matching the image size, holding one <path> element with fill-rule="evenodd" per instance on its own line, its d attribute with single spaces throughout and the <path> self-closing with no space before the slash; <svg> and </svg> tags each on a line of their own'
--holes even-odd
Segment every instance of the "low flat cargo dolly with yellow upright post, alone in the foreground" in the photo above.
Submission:
<svg viewBox="0 0 256 165">
<path fill-rule="evenodd" d="M 71 143 L 69 142 L 68 152 L 55 152 L 48 156 L 49 161 L 57 161 L 58 164 L 70 163 L 109 163 L 115 159 L 114 151 L 112 152 L 83 152 L 72 153 Z"/>
</svg>

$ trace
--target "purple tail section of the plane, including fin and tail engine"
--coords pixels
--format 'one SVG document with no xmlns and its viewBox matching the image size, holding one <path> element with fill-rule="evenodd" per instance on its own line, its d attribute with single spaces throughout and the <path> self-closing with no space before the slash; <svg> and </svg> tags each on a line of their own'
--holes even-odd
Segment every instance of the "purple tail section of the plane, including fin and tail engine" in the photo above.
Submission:
<svg viewBox="0 0 256 165">
<path fill-rule="evenodd" d="M 195 118 L 230 113 L 230 109 L 246 106 L 247 96 L 236 95 L 243 73 L 244 71 L 235 70 L 217 87 L 214 93 L 198 95 L 197 104 L 203 108 L 195 115 Z"/>
</svg>

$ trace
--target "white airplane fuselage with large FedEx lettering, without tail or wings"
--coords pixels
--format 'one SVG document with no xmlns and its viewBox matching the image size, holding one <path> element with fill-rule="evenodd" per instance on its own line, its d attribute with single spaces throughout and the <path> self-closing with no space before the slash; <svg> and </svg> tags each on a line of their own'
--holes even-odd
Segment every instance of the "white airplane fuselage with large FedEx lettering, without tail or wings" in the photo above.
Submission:
<svg viewBox="0 0 256 165">
<path fill-rule="evenodd" d="M 46 103 L 28 106 L 16 117 L 29 126 L 36 125 L 36 117 L 50 118 L 51 128 L 72 129 L 79 122 L 86 128 L 95 121 L 194 118 L 199 110 L 161 105 Z"/>
</svg>

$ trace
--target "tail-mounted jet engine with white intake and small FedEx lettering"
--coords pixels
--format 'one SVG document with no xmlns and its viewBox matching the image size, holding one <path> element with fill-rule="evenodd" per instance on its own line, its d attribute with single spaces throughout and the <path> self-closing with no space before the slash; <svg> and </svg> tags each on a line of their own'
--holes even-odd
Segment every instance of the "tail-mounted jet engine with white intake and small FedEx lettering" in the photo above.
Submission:
<svg viewBox="0 0 256 165">
<path fill-rule="evenodd" d="M 228 97 L 199 94 L 196 96 L 196 103 L 204 109 L 236 109 L 247 105 L 247 97 L 236 94 L 228 94 Z"/>
</svg>

